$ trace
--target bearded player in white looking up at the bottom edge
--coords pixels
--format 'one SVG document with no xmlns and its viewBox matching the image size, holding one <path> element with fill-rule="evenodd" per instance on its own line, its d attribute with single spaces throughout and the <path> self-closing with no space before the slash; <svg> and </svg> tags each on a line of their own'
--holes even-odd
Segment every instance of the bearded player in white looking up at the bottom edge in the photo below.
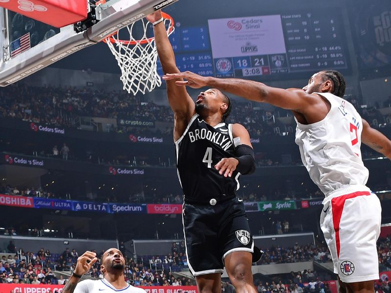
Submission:
<svg viewBox="0 0 391 293">
<path fill-rule="evenodd" d="M 144 289 L 130 286 L 125 282 L 125 259 L 121 251 L 110 248 L 103 253 L 101 258 L 101 272 L 104 278 L 100 280 L 83 280 L 79 283 L 83 274 L 89 272 L 97 261 L 96 253 L 86 251 L 77 259 L 76 268 L 64 286 L 62 293 L 146 293 Z"/>
</svg>

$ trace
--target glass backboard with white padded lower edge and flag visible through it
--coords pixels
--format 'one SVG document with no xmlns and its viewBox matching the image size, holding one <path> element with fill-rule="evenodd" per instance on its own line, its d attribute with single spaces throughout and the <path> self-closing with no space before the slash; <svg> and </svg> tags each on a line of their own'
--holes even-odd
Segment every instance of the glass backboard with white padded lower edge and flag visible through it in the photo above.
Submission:
<svg viewBox="0 0 391 293">
<path fill-rule="evenodd" d="M 21 14 L 0 9 L 0 86 L 13 84 L 87 46 L 106 39 L 126 25 L 138 21 L 177 0 L 106 0 L 88 3 L 93 24 L 80 32 L 75 26 L 55 28 Z"/>
</svg>

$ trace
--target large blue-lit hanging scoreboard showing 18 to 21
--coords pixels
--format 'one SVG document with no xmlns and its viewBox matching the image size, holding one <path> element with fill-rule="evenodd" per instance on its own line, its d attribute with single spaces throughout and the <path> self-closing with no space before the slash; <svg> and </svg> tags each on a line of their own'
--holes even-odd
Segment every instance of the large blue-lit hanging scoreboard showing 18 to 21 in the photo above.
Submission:
<svg viewBox="0 0 391 293">
<path fill-rule="evenodd" d="M 328 11 L 329 10 L 329 11 Z M 170 41 L 180 71 L 266 77 L 348 69 L 342 17 L 333 8 L 177 25 Z M 159 73 L 162 74 L 160 63 Z"/>
</svg>

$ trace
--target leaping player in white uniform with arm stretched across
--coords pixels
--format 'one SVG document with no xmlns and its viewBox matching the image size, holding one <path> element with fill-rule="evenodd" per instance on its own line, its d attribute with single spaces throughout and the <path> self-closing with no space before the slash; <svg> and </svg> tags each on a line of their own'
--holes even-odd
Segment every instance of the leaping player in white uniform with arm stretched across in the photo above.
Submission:
<svg viewBox="0 0 391 293">
<path fill-rule="evenodd" d="M 296 143 L 311 179 L 325 193 L 321 228 L 331 252 L 334 272 L 344 293 L 374 292 L 379 279 L 376 240 L 381 206 L 365 185 L 361 142 L 391 159 L 391 141 L 371 128 L 348 101 L 345 80 L 334 70 L 314 74 L 302 89 L 281 89 L 240 79 L 202 77 L 192 72 L 167 74 L 184 78 L 177 85 L 210 86 L 292 110 L 297 122 Z"/>
</svg>

